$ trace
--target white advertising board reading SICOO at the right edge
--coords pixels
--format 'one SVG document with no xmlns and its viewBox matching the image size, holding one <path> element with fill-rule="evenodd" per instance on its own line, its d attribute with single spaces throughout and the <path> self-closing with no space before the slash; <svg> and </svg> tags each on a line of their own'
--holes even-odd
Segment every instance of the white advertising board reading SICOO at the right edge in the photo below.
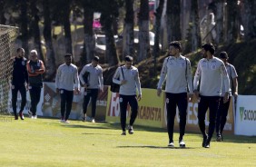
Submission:
<svg viewBox="0 0 256 167">
<path fill-rule="evenodd" d="M 256 136 L 256 96 L 239 95 L 236 105 L 235 134 Z"/>
</svg>

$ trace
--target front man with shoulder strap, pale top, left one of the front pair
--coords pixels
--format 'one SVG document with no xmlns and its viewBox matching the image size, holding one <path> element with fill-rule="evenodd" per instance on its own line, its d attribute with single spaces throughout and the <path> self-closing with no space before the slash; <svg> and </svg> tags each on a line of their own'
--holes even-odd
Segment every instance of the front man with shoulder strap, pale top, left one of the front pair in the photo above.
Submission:
<svg viewBox="0 0 256 167">
<path fill-rule="evenodd" d="M 180 147 L 185 147 L 183 135 L 185 134 L 186 116 L 189 100 L 192 100 L 192 68 L 189 59 L 182 56 L 182 44 L 173 41 L 169 46 L 169 56 L 164 59 L 160 80 L 157 84 L 157 95 L 162 93 L 162 83 L 166 79 L 166 111 L 169 147 L 174 147 L 173 126 L 176 115 L 176 107 L 179 108 L 180 116 Z M 189 90 L 187 90 L 189 88 Z M 189 92 L 189 93 L 188 93 Z"/>
</svg>

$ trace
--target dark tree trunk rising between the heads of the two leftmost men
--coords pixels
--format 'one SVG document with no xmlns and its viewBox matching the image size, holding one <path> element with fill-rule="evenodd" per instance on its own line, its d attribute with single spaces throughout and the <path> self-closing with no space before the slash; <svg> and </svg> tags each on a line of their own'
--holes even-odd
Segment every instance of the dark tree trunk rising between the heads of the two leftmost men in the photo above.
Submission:
<svg viewBox="0 0 256 167">
<path fill-rule="evenodd" d="M 27 19 L 27 0 L 20 1 L 21 3 L 21 40 L 22 47 L 25 49 L 25 57 L 28 54 L 28 19 Z"/>
</svg>

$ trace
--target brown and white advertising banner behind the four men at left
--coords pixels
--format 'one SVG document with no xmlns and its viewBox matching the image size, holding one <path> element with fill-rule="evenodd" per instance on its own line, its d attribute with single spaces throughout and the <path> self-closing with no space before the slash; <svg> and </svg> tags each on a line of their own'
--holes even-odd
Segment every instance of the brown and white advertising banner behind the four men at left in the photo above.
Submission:
<svg viewBox="0 0 256 167">
<path fill-rule="evenodd" d="M 105 119 L 106 103 L 107 103 L 107 90 L 108 86 L 104 86 L 103 93 L 99 91 L 97 108 L 96 108 L 96 121 L 103 121 Z M 11 92 L 10 92 L 11 97 Z M 30 95 L 26 93 L 27 101 L 25 105 L 24 113 L 27 113 L 30 109 Z M 83 113 L 83 102 L 84 102 L 84 88 L 81 88 L 81 92 L 78 95 L 74 95 L 72 111 L 70 113 L 70 119 L 81 119 Z M 21 96 L 18 95 L 17 99 L 17 112 L 20 110 Z M 49 116 L 60 118 L 61 117 L 61 100 L 60 95 L 56 93 L 55 83 L 44 83 L 44 87 L 41 91 L 40 102 L 37 105 L 37 115 Z M 12 100 L 9 99 L 9 111 L 13 112 Z M 88 104 L 87 115 L 91 116 L 91 103 Z"/>
</svg>

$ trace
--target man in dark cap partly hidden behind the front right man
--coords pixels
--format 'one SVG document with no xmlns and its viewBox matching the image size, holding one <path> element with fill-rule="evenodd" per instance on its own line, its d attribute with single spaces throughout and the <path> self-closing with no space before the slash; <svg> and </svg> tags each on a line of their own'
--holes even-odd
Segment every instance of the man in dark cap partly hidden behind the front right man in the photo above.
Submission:
<svg viewBox="0 0 256 167">
<path fill-rule="evenodd" d="M 226 52 L 221 52 L 220 54 L 220 59 L 222 59 L 223 63 L 225 64 L 227 74 L 229 75 L 230 78 L 230 89 L 229 89 L 229 98 L 228 102 L 224 103 L 223 98 L 224 98 L 224 87 L 222 86 L 222 97 L 220 101 L 220 105 L 218 108 L 217 112 L 217 119 L 216 119 L 216 135 L 217 135 L 217 142 L 222 142 L 223 137 L 222 137 L 222 132 L 225 126 L 225 123 L 227 121 L 227 115 L 229 112 L 229 107 L 230 107 L 230 102 L 231 102 L 231 83 L 233 83 L 234 91 L 233 91 L 233 96 L 236 98 L 238 95 L 238 83 L 237 83 L 237 73 L 235 70 L 235 67 L 232 64 L 228 63 L 229 56 Z M 223 85 L 224 83 L 222 83 Z"/>
</svg>

